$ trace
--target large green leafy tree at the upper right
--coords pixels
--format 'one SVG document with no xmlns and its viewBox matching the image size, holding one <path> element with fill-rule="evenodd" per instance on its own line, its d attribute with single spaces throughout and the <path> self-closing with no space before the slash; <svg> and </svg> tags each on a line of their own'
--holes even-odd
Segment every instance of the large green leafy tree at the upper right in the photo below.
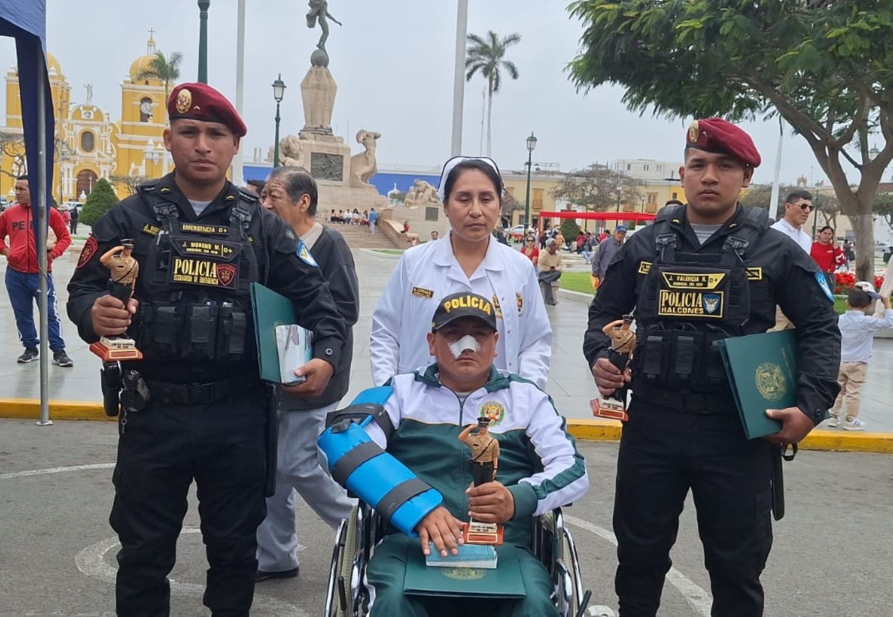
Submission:
<svg viewBox="0 0 893 617">
<path fill-rule="evenodd" d="M 872 205 L 893 160 L 893 0 L 579 0 L 578 88 L 630 109 L 730 120 L 779 114 L 805 138 L 873 270 Z M 872 145 L 878 150 L 872 151 Z"/>
</svg>

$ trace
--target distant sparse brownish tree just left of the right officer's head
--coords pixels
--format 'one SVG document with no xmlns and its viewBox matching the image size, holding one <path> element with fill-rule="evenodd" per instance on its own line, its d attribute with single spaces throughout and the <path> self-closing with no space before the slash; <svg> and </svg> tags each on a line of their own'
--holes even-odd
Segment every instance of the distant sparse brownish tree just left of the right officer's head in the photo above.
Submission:
<svg viewBox="0 0 893 617">
<path fill-rule="evenodd" d="M 638 204 L 643 188 L 641 181 L 623 171 L 592 164 L 565 175 L 552 190 L 552 196 L 588 211 L 605 212 L 620 204 Z"/>
</svg>

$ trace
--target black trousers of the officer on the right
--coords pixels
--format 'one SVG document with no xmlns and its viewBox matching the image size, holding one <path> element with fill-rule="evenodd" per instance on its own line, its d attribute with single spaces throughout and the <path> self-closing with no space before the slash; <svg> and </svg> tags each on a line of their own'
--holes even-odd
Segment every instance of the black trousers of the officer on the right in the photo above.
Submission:
<svg viewBox="0 0 893 617">
<path fill-rule="evenodd" d="M 736 413 L 680 413 L 633 395 L 617 459 L 614 588 L 622 617 L 652 616 L 691 488 L 714 596 L 712 614 L 763 614 L 772 547 L 771 447 Z"/>
</svg>

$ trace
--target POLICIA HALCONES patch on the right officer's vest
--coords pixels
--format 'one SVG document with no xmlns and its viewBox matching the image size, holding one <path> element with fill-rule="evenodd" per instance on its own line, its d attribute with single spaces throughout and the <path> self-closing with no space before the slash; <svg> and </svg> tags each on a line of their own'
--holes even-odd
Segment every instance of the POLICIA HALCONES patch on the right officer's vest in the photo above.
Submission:
<svg viewBox="0 0 893 617">
<path fill-rule="evenodd" d="M 657 295 L 657 314 L 661 317 L 722 319 L 725 291 L 719 288 L 727 274 L 661 271 L 663 280 Z"/>
</svg>

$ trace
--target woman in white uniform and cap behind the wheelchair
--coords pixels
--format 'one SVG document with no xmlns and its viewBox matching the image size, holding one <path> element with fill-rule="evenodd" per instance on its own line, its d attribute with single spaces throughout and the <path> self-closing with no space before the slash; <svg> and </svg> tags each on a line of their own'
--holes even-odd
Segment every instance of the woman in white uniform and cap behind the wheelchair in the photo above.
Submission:
<svg viewBox="0 0 893 617">
<path fill-rule="evenodd" d="M 497 242 L 503 195 L 497 164 L 485 157 L 454 157 L 440 175 L 438 196 L 450 232 L 405 251 L 372 313 L 372 381 L 434 362 L 428 353 L 429 316 L 441 298 L 471 291 L 497 309 L 495 364 L 545 388 L 552 327 L 530 259 Z"/>
</svg>

